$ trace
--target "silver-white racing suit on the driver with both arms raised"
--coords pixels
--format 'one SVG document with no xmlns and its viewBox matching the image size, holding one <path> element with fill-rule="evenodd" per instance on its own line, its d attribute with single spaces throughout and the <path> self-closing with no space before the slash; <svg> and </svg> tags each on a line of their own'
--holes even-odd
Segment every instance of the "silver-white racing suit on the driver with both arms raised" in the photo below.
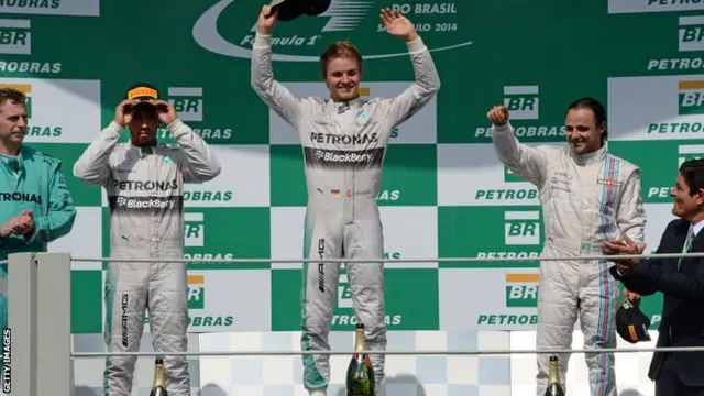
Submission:
<svg viewBox="0 0 704 396">
<path fill-rule="evenodd" d="M 252 87 L 266 105 L 294 127 L 302 144 L 308 207 L 301 301 L 301 348 L 329 350 L 340 264 L 324 258 L 384 258 L 382 222 L 376 205 L 382 164 L 392 129 L 418 112 L 440 88 L 430 52 L 420 38 L 407 43 L 416 81 L 391 99 L 336 103 L 296 98 L 276 81 L 271 37 L 256 35 L 252 54 Z M 369 350 L 386 349 L 383 263 L 345 264 L 352 304 L 364 323 Z M 384 378 L 384 355 L 371 355 L 377 384 Z M 307 389 L 326 389 L 329 355 L 304 355 Z M 346 367 L 344 367 L 346 369 Z"/>
</svg>

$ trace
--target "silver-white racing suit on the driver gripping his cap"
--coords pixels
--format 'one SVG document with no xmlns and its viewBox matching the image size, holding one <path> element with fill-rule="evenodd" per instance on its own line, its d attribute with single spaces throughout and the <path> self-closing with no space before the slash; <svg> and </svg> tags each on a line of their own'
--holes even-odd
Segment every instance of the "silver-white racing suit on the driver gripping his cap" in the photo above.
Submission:
<svg viewBox="0 0 704 396">
<path fill-rule="evenodd" d="M 110 352 L 138 352 L 148 309 L 154 350 L 164 352 L 169 395 L 189 396 L 186 356 L 188 285 L 184 258 L 184 183 L 206 182 L 220 165 L 206 142 L 180 120 L 167 129 L 178 145 L 140 148 L 118 144 L 123 129 L 111 122 L 74 165 L 74 175 L 105 187 L 110 206 L 111 258 L 153 262 L 109 264 L 106 279 L 106 344 Z M 105 394 L 132 395 L 136 356 L 108 356 Z"/>
</svg>

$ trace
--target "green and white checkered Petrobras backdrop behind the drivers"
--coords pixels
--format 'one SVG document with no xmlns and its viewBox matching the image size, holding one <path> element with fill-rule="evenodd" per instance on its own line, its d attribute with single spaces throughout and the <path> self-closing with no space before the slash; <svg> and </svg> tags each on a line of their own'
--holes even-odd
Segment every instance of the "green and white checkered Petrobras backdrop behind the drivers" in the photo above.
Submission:
<svg viewBox="0 0 704 396">
<path fill-rule="evenodd" d="M 348 7 L 345 7 L 348 6 Z M 403 42 L 378 9 L 417 25 L 442 88 L 394 131 L 378 204 L 389 257 L 530 257 L 543 240 L 532 186 L 506 172 L 486 111 L 506 103 L 522 142 L 561 143 L 565 107 L 593 96 L 608 109 L 609 150 L 642 167 L 647 240 L 672 219 L 668 188 L 682 158 L 704 153 L 704 6 L 694 1 L 333 1 L 320 16 L 279 23 L 275 76 L 296 95 L 326 95 L 317 64 L 336 40 L 365 55 L 362 88 L 400 92 L 413 80 Z M 257 1 L 0 1 L 0 85 L 28 92 L 30 145 L 63 160 L 79 216 L 52 245 L 109 254 L 98 187 L 72 167 L 107 125 L 128 86 L 158 87 L 216 146 L 222 174 L 186 197 L 187 258 L 295 258 L 306 193 L 297 138 L 250 86 Z M 125 136 L 127 138 L 127 136 Z M 169 141 L 167 132 L 161 133 Z M 103 264 L 77 263 L 76 333 L 99 332 Z M 196 264 L 191 331 L 297 330 L 300 264 Z M 393 329 L 528 329 L 537 262 L 389 264 Z M 251 299 L 231 298 L 249 293 Z M 340 285 L 336 328 L 352 328 Z M 207 297 L 206 297 L 207 296 Z M 470 300 L 468 300 L 470 299 Z M 519 301 L 516 301 L 518 299 Z M 249 305 L 253 304 L 252 307 Z M 658 315 L 661 298 L 644 307 Z M 195 319 L 200 318 L 200 319 Z M 657 320 L 654 323 L 657 328 Z"/>
</svg>

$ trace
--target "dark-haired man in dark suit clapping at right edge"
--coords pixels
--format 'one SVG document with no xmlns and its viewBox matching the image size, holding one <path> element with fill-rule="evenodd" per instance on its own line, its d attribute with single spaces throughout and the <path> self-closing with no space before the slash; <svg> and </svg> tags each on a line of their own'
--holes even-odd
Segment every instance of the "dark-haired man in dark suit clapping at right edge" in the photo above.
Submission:
<svg viewBox="0 0 704 396">
<path fill-rule="evenodd" d="M 657 253 L 704 252 L 704 160 L 680 166 L 672 220 Z M 627 235 L 602 244 L 605 254 L 642 254 Z M 615 261 L 614 278 L 642 296 L 663 294 L 658 346 L 704 346 L 704 257 Z M 656 352 L 650 380 L 656 396 L 704 396 L 704 352 Z"/>
</svg>

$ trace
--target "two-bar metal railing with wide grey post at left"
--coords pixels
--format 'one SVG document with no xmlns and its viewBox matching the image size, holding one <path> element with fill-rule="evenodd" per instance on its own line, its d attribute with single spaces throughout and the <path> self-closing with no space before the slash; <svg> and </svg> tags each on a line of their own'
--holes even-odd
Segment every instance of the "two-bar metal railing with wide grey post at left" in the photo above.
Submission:
<svg viewBox="0 0 704 396">
<path fill-rule="evenodd" d="M 704 253 L 668 253 L 641 255 L 588 255 L 570 257 L 510 257 L 510 258 L 475 258 L 475 257 L 435 257 L 406 260 L 323 260 L 323 262 L 380 262 L 385 263 L 428 263 L 428 262 L 505 262 L 505 261 L 564 261 L 564 260 L 607 260 L 644 258 L 644 257 L 681 257 L 704 256 Z M 96 356 L 237 356 L 237 355 L 302 355 L 302 354 L 352 354 L 353 351 L 218 351 L 218 352 L 90 352 L 72 351 L 70 334 L 70 271 L 72 262 L 90 261 L 135 261 L 150 260 L 125 258 L 72 258 L 69 253 L 18 253 L 8 260 L 7 283 L 9 330 L 3 331 L 3 370 L 11 370 L 12 388 L 8 393 L 15 396 L 25 395 L 70 395 L 73 394 L 73 359 Z M 153 260 L 151 260 L 153 261 Z M 166 260 L 165 260 L 166 261 Z M 266 263 L 300 263 L 312 260 L 274 260 L 263 258 Z M 197 260 L 168 260 L 168 262 L 200 262 Z M 252 263 L 255 260 L 217 260 L 207 262 Z M 9 343 L 8 343 L 9 341 Z M 8 350 L 9 346 L 9 350 Z M 700 348 L 651 348 L 651 349 L 554 349 L 554 350 L 475 350 L 475 351 L 367 351 L 371 354 L 386 355 L 502 355 L 536 353 L 640 353 L 656 351 L 692 351 L 702 352 Z M 8 355 L 9 353 L 9 355 Z M 8 359 L 9 358 L 9 359 Z M 9 361 L 9 362 L 8 362 Z M 4 373 L 3 373 L 4 374 Z M 7 391 L 7 389 L 4 389 Z"/>
</svg>

